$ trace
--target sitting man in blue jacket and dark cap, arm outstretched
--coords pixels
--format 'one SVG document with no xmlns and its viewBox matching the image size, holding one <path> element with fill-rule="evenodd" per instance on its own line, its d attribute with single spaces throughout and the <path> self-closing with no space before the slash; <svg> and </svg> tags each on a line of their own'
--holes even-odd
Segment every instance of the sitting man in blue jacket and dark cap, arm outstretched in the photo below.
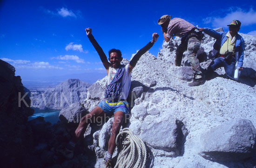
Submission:
<svg viewBox="0 0 256 168">
<path fill-rule="evenodd" d="M 240 29 L 241 22 L 239 20 L 233 20 L 228 26 L 229 32 L 216 32 L 210 28 L 200 28 L 200 31 L 216 39 L 213 46 L 214 49 L 209 54 L 209 57 L 212 57 L 214 60 L 207 68 L 207 79 L 210 79 L 213 71 L 219 67 L 224 67 L 226 77 L 232 80 L 234 80 L 235 68 L 237 67 L 239 70 L 243 69 L 244 40 L 237 33 Z"/>
</svg>

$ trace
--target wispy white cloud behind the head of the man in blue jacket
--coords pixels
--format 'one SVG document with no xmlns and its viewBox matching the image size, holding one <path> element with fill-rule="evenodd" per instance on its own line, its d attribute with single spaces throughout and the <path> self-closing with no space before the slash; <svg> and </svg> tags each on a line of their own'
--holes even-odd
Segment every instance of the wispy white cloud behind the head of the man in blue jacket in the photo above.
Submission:
<svg viewBox="0 0 256 168">
<path fill-rule="evenodd" d="M 233 11 L 231 8 L 230 13 L 224 17 L 208 17 L 204 19 L 204 23 L 211 23 L 213 27 L 227 27 L 232 20 L 240 20 L 241 26 L 248 26 L 256 24 L 256 11 L 250 9 L 248 12 L 243 11 L 241 8 L 236 8 Z"/>
</svg>

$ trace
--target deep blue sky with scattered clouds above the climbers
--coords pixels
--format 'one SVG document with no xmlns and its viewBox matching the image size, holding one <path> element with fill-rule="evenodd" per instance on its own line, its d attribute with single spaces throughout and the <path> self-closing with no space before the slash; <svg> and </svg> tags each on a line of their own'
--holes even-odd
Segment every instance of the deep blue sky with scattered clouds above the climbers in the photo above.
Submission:
<svg viewBox="0 0 256 168">
<path fill-rule="evenodd" d="M 128 60 L 156 32 L 149 52 L 157 56 L 164 40 L 157 20 L 164 14 L 224 30 L 237 19 L 241 33 L 256 35 L 255 0 L 1 0 L 0 59 L 27 80 L 106 73 L 85 28 L 106 54 L 117 48 Z"/>
</svg>

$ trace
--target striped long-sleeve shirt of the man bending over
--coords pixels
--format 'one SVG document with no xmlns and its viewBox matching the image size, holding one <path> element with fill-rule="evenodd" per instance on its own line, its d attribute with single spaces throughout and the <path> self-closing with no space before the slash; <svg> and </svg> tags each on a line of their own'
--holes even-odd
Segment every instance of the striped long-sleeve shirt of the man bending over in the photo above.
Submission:
<svg viewBox="0 0 256 168">
<path fill-rule="evenodd" d="M 188 21 L 181 18 L 173 18 L 170 20 L 166 37 L 171 38 L 172 36 L 182 37 L 188 33 L 195 26 Z"/>
</svg>

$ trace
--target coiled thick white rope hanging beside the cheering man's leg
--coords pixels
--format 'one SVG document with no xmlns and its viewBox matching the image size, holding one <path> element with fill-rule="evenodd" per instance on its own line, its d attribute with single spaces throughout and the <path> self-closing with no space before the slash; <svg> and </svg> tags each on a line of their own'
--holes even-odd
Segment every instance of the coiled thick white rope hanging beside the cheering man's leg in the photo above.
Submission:
<svg viewBox="0 0 256 168">
<path fill-rule="evenodd" d="M 124 128 L 116 136 L 118 158 L 115 168 L 145 168 L 147 149 L 144 142 L 129 128 Z"/>
</svg>

